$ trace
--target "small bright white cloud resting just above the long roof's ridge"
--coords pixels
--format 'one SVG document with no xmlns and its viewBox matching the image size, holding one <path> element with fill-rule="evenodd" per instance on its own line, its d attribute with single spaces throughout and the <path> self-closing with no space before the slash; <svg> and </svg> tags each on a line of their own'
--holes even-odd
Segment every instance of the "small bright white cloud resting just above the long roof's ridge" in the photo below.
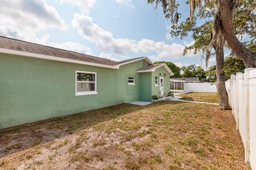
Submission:
<svg viewBox="0 0 256 170">
<path fill-rule="evenodd" d="M 95 55 L 92 52 L 91 48 L 85 47 L 84 45 L 82 45 L 80 43 L 73 43 L 73 42 L 62 43 L 62 44 L 50 43 L 50 46 L 55 47 L 55 48 L 70 50 L 72 52 L 83 53 L 83 54 L 88 54 L 88 55 Z"/>
</svg>

